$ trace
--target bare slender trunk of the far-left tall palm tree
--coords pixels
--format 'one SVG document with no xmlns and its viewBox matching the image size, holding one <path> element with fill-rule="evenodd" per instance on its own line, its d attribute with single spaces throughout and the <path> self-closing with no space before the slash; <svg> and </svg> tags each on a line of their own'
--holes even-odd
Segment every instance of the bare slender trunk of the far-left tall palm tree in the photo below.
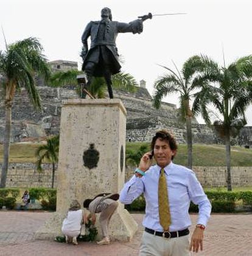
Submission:
<svg viewBox="0 0 252 256">
<path fill-rule="evenodd" d="M 5 101 L 5 130 L 4 130 L 4 160 L 2 163 L 2 175 L 0 188 L 5 188 L 9 165 L 10 153 L 10 129 L 12 124 L 12 101 Z"/>
</svg>

